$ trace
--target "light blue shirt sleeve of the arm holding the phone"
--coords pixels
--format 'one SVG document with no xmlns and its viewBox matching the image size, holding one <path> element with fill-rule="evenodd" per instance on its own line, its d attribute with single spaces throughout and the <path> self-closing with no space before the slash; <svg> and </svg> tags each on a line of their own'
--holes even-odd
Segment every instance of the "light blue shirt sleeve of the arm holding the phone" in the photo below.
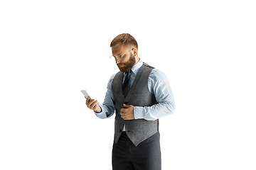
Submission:
<svg viewBox="0 0 256 170">
<path fill-rule="evenodd" d="M 100 113 L 95 112 L 95 115 L 98 118 L 110 118 L 114 114 L 114 95 L 112 91 L 112 81 L 114 79 L 114 76 L 115 74 L 112 75 L 112 77 L 110 77 L 110 80 L 107 84 L 107 92 L 105 95 L 104 102 L 99 105 L 102 111 Z"/>
</svg>

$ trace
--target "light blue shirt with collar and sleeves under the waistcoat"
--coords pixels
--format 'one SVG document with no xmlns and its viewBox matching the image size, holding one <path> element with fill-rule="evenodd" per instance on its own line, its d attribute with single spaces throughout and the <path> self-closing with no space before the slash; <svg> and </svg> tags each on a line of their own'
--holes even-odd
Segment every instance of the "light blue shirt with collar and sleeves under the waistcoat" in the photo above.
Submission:
<svg viewBox="0 0 256 170">
<path fill-rule="evenodd" d="M 137 73 L 139 72 L 139 69 L 142 67 L 142 65 L 142 60 L 139 60 L 139 62 L 137 62 L 134 67 L 132 67 L 129 86 L 131 86 L 134 82 L 134 79 L 137 76 Z M 105 96 L 105 100 L 102 104 L 100 104 L 100 108 L 102 108 L 102 111 L 100 113 L 95 113 L 98 118 L 110 118 L 112 115 L 114 115 L 115 109 L 114 95 L 112 92 L 112 81 L 115 75 L 116 74 L 110 77 L 110 81 L 107 84 L 107 93 Z M 123 83 L 125 76 L 126 73 L 124 73 Z M 134 106 L 134 118 L 156 120 L 166 115 L 170 115 L 171 113 L 174 113 L 174 95 L 171 91 L 171 86 L 169 85 L 169 81 L 164 72 L 161 72 L 159 69 L 152 69 L 151 73 L 149 74 L 148 85 L 149 91 L 154 94 L 158 103 L 149 107 Z M 122 91 L 120 91 L 120 93 L 122 93 Z"/>
</svg>

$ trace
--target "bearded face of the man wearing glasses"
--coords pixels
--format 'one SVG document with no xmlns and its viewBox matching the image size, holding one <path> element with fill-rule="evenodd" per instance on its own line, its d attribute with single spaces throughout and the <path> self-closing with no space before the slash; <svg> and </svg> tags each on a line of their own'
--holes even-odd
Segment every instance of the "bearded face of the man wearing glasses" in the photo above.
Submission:
<svg viewBox="0 0 256 170">
<path fill-rule="evenodd" d="M 121 61 L 116 59 L 117 67 L 119 68 L 119 70 L 121 72 L 129 72 L 129 70 L 132 69 L 132 67 L 135 64 L 135 57 L 134 57 L 134 55 L 132 55 L 131 49 L 132 49 L 132 47 L 127 47 L 126 45 L 122 45 L 122 44 L 112 47 L 112 55 L 114 55 L 116 57 L 123 55 Z M 129 51 L 129 50 L 131 50 L 131 51 Z M 129 51 L 129 52 L 127 52 L 127 51 Z"/>
</svg>

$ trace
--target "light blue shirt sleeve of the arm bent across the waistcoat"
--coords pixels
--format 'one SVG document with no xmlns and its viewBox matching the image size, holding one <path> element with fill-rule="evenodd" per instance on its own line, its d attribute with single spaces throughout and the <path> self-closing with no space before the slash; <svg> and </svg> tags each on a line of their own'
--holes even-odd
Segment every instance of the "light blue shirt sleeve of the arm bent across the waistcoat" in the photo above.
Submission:
<svg viewBox="0 0 256 170">
<path fill-rule="evenodd" d="M 170 115 L 175 111 L 174 95 L 169 81 L 159 69 L 153 69 L 149 74 L 149 91 L 155 95 L 157 104 L 149 107 L 134 107 L 134 118 L 156 120 Z"/>
</svg>

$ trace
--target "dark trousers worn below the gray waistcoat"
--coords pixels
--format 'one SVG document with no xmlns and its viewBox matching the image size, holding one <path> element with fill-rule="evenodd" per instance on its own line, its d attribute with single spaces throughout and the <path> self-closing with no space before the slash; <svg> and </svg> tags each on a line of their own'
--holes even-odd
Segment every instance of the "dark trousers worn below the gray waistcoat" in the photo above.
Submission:
<svg viewBox="0 0 256 170">
<path fill-rule="evenodd" d="M 137 147 L 122 133 L 112 149 L 113 170 L 161 170 L 160 134 L 156 132 Z"/>
</svg>

